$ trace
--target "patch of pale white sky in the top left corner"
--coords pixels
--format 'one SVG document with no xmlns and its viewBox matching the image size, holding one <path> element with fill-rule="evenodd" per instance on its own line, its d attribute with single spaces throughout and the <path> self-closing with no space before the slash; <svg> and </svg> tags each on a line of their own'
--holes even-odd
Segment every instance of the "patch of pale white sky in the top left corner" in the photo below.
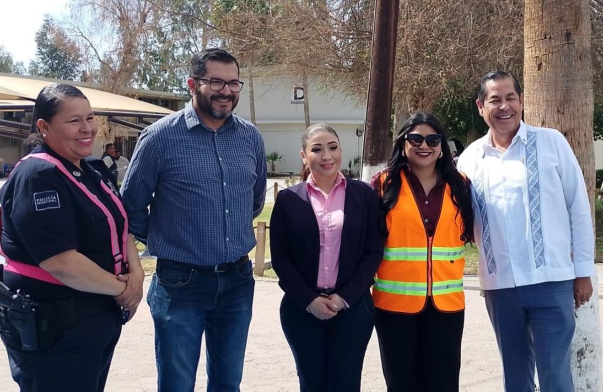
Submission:
<svg viewBox="0 0 603 392">
<path fill-rule="evenodd" d="M 0 5 L 0 45 L 16 62 L 28 63 L 36 55 L 36 31 L 44 14 L 60 17 L 68 13 L 69 0 L 2 0 Z"/>
</svg>

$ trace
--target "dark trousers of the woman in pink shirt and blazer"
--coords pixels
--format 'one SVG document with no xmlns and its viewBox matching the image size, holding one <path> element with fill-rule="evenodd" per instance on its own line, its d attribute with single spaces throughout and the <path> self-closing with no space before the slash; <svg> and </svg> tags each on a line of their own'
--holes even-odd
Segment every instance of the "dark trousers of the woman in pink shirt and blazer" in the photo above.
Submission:
<svg viewBox="0 0 603 392">
<path fill-rule="evenodd" d="M 364 353 L 374 324 L 368 291 L 329 320 L 319 320 L 285 294 L 280 323 L 293 352 L 301 392 L 360 391 Z"/>
</svg>

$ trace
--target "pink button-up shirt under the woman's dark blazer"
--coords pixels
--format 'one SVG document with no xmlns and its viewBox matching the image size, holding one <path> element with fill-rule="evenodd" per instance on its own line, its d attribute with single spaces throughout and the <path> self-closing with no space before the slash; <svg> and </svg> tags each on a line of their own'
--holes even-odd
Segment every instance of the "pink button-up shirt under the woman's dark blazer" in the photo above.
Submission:
<svg viewBox="0 0 603 392">
<path fill-rule="evenodd" d="M 312 175 L 306 182 L 308 199 L 314 209 L 320 232 L 320 255 L 318 256 L 318 280 L 320 289 L 334 288 L 339 272 L 339 248 L 343 228 L 344 204 L 346 203 L 346 177 L 337 175 L 335 187 L 328 195 L 316 186 Z"/>
</svg>

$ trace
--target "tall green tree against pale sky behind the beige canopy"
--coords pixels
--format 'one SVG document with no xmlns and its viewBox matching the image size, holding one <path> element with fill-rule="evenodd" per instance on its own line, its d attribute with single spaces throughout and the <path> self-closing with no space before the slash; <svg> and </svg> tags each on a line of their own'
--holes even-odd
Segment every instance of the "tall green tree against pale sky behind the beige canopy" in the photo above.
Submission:
<svg viewBox="0 0 603 392">
<path fill-rule="evenodd" d="M 30 63 L 31 75 L 76 80 L 81 74 L 80 49 L 49 16 L 36 33 L 36 47 L 36 59 Z"/>
</svg>

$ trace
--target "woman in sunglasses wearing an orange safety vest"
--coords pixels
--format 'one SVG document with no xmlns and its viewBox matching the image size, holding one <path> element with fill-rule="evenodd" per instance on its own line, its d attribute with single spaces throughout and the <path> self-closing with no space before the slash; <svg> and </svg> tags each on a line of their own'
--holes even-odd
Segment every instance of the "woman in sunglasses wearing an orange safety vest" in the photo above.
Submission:
<svg viewBox="0 0 603 392">
<path fill-rule="evenodd" d="M 373 299 L 388 391 L 458 391 L 473 209 L 434 115 L 405 122 L 375 183 L 387 239 Z"/>
</svg>

